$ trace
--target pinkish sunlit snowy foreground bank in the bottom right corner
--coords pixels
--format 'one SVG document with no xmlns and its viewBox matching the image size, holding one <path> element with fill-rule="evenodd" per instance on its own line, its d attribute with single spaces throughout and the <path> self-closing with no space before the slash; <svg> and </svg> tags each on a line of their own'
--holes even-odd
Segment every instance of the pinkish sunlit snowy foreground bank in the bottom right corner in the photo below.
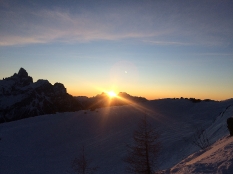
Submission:
<svg viewBox="0 0 233 174">
<path fill-rule="evenodd" d="M 226 136 L 205 150 L 198 151 L 160 174 L 233 173 L 233 137 Z"/>
</svg>

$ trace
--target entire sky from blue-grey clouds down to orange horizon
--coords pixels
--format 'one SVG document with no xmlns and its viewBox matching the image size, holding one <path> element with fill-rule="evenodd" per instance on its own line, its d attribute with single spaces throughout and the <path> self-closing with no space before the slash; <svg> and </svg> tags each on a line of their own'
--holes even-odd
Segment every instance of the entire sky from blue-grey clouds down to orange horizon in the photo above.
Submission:
<svg viewBox="0 0 233 174">
<path fill-rule="evenodd" d="M 74 96 L 233 98 L 231 0 L 0 0 L 0 79 Z"/>
</svg>

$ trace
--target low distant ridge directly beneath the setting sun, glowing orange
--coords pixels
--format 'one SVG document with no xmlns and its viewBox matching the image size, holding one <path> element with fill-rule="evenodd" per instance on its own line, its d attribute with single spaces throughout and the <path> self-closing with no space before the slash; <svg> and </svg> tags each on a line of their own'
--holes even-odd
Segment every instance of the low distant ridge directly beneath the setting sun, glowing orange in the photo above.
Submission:
<svg viewBox="0 0 233 174">
<path fill-rule="evenodd" d="M 95 110 L 97 108 L 108 106 L 120 106 L 130 103 L 146 102 L 147 99 L 143 97 L 136 97 L 127 94 L 126 92 L 120 92 L 117 97 L 110 98 L 107 93 L 98 94 L 94 97 L 88 98 L 86 96 L 78 96 L 76 99 L 82 104 L 84 109 Z"/>
</svg>

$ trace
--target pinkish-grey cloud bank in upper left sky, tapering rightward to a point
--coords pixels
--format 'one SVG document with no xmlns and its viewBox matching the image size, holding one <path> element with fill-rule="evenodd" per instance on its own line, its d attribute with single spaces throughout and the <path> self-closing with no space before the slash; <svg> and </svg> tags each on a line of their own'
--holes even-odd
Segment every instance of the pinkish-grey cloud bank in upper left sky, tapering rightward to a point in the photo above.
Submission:
<svg viewBox="0 0 233 174">
<path fill-rule="evenodd" d="M 5 14 L 7 16 L 7 14 Z M 137 31 L 121 28 L 114 31 L 119 24 L 105 22 L 90 14 L 72 15 L 55 10 L 26 11 L 12 13 L 7 24 L 10 31 L 2 31 L 1 46 L 48 43 L 48 42 L 88 42 L 93 40 L 120 40 L 126 38 L 154 37 L 164 31 Z M 28 17 L 30 16 L 30 18 Z M 17 26 L 14 28 L 14 25 Z"/>
</svg>

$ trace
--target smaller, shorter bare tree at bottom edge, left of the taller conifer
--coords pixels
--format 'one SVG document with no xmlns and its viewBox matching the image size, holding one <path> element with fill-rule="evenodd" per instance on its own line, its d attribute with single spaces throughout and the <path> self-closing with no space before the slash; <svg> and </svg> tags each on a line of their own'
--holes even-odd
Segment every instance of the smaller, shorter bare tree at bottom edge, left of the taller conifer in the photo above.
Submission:
<svg viewBox="0 0 233 174">
<path fill-rule="evenodd" d="M 74 159 L 72 168 L 77 174 L 92 174 L 98 167 L 91 167 L 91 162 L 91 159 L 87 159 L 83 146 L 79 157 Z"/>
</svg>

